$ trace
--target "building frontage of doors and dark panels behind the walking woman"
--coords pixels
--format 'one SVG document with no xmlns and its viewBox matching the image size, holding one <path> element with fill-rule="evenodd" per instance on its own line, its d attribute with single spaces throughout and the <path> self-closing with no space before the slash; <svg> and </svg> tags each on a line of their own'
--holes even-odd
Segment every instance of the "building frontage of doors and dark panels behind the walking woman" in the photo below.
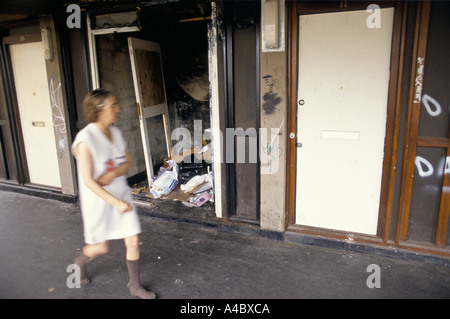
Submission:
<svg viewBox="0 0 450 319">
<path fill-rule="evenodd" d="M 1 189 L 76 199 L 69 149 L 85 94 L 103 87 L 120 103 L 143 209 L 171 202 L 268 238 L 450 256 L 445 2 L 73 5 L 1 24 Z M 177 185 L 155 196 L 175 169 Z"/>
</svg>

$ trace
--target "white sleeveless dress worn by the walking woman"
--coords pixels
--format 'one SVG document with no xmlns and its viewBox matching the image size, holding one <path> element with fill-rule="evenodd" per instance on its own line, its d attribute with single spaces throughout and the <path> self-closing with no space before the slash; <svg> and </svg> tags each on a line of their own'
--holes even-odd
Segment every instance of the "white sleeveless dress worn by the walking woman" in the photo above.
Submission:
<svg viewBox="0 0 450 319">
<path fill-rule="evenodd" d="M 92 170 L 95 180 L 105 174 L 108 169 L 118 167 L 126 161 L 126 142 L 122 132 L 113 126 L 110 126 L 109 129 L 113 142 L 94 123 L 90 123 L 77 134 L 72 145 L 72 151 L 81 142 L 88 147 L 92 156 Z M 104 186 L 105 190 L 113 196 L 133 205 L 132 211 L 120 213 L 114 206 L 108 204 L 86 187 L 78 158 L 77 165 L 86 244 L 122 239 L 141 233 L 141 224 L 136 208 L 132 204 L 132 195 L 125 175 L 115 178 L 109 185 Z"/>
</svg>

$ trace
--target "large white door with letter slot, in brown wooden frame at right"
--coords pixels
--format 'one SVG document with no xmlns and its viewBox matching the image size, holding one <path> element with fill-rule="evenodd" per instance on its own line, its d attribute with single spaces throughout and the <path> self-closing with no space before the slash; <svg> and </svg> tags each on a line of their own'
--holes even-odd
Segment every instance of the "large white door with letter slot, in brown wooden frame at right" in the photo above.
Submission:
<svg viewBox="0 0 450 319">
<path fill-rule="evenodd" d="M 299 17 L 296 224 L 376 234 L 393 13 Z"/>
</svg>

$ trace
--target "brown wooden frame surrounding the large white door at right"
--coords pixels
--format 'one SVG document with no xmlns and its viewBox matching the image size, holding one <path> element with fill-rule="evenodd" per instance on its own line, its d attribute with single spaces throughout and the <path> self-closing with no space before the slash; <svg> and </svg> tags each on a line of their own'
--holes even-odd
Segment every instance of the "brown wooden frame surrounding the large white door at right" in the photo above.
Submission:
<svg viewBox="0 0 450 319">
<path fill-rule="evenodd" d="M 381 8 L 394 7 L 394 24 L 391 46 L 391 74 L 387 105 L 386 138 L 382 169 L 382 185 L 380 208 L 376 235 L 355 234 L 346 231 L 295 224 L 295 194 L 296 194 L 296 134 L 297 134 L 297 85 L 298 85 L 298 17 L 300 14 L 315 14 L 340 12 L 348 10 L 367 9 L 372 2 L 290 2 L 288 7 L 288 132 L 294 133 L 294 138 L 287 137 L 286 165 L 286 218 L 285 229 L 306 235 L 320 235 L 334 239 L 349 237 L 359 242 L 386 243 L 389 236 L 391 207 L 395 183 L 395 163 L 397 156 L 397 141 L 400 127 L 401 86 L 403 74 L 403 51 L 406 28 L 406 4 L 403 2 L 379 2 Z M 369 13 L 368 13 L 369 15 Z M 287 135 L 291 135 L 287 134 Z"/>
</svg>

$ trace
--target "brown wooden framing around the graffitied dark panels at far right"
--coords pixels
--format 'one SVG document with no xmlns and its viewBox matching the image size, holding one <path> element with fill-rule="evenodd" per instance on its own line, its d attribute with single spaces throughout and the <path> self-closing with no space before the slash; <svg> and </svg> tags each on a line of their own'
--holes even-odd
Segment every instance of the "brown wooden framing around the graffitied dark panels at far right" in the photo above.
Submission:
<svg viewBox="0 0 450 319">
<path fill-rule="evenodd" d="M 431 15 L 430 1 L 423 1 L 417 5 L 417 12 L 415 17 L 415 29 L 412 48 L 412 66 L 410 83 L 407 97 L 406 110 L 406 127 L 405 127 L 405 148 L 403 152 L 402 175 L 400 181 L 400 198 L 399 198 L 399 212 L 397 215 L 397 224 L 395 232 L 395 243 L 399 246 L 410 248 L 413 244 L 407 242 L 408 225 L 410 223 L 410 208 L 412 199 L 412 188 L 415 171 L 415 158 L 417 147 L 426 148 L 442 148 L 446 149 L 446 160 L 444 167 L 449 165 L 450 158 L 450 136 L 449 138 L 439 137 L 420 137 L 419 136 L 419 121 L 422 105 L 423 93 L 421 91 L 424 77 L 427 74 L 427 40 L 428 40 L 428 26 Z M 421 81 L 420 85 L 417 81 Z M 420 87 L 420 90 L 418 88 Z M 419 95 L 419 98 L 418 98 Z M 446 238 L 449 226 L 450 215 L 450 193 L 446 191 L 450 185 L 450 174 L 444 171 L 441 199 L 439 205 L 439 214 L 437 221 L 437 228 L 435 229 L 434 245 L 429 244 L 429 250 L 445 249 Z M 450 256 L 450 253 L 447 253 Z"/>
</svg>

